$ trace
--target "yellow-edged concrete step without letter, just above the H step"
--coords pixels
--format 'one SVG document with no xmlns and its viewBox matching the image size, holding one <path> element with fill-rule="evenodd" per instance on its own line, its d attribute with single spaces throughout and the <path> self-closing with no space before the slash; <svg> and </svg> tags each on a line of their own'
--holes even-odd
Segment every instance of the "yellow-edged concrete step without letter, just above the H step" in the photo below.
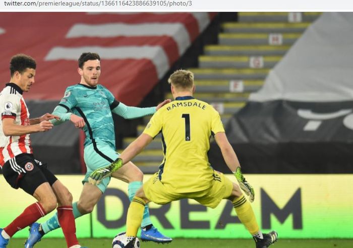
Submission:
<svg viewBox="0 0 353 248">
<path fill-rule="evenodd" d="M 295 33 L 303 32 L 311 22 L 226 22 L 222 24 L 224 33 Z"/>
</svg>

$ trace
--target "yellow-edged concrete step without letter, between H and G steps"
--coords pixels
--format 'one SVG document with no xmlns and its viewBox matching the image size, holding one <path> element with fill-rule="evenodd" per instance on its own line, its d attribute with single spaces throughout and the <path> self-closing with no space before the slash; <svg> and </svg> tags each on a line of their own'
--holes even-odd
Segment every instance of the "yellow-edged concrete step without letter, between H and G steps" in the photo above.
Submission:
<svg viewBox="0 0 353 248">
<path fill-rule="evenodd" d="M 284 55 L 290 45 L 207 45 L 204 48 L 205 55 L 228 56 L 265 56 Z"/>
</svg>

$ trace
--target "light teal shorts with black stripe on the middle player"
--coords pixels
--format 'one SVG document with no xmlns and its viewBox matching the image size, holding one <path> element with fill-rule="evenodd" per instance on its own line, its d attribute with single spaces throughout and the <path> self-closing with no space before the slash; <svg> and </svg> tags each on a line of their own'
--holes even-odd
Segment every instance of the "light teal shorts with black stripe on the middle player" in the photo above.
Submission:
<svg viewBox="0 0 353 248">
<path fill-rule="evenodd" d="M 120 154 L 115 151 L 114 148 L 106 144 L 90 144 L 84 149 L 84 159 L 86 163 L 87 172 L 82 183 L 88 182 L 89 175 L 96 169 L 108 166 L 112 161 L 119 158 Z M 110 176 L 105 177 L 97 187 L 104 194 L 108 184 L 110 182 Z"/>
</svg>

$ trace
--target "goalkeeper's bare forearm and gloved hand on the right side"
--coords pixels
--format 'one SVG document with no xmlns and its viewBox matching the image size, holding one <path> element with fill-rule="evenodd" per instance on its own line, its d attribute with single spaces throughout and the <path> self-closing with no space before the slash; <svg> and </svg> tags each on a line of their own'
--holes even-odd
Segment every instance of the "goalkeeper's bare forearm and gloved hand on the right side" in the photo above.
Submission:
<svg viewBox="0 0 353 248">
<path fill-rule="evenodd" d="M 234 176 L 236 176 L 240 188 L 242 188 L 245 194 L 249 196 L 249 201 L 253 202 L 255 197 L 254 189 L 243 176 L 237 154 L 236 152 L 234 152 L 233 148 L 229 144 L 225 133 L 216 133 L 214 135 L 214 139 L 216 140 L 216 143 L 222 152 L 222 156 L 224 158 L 225 163 L 227 164 L 228 168 L 233 172 Z"/>
</svg>

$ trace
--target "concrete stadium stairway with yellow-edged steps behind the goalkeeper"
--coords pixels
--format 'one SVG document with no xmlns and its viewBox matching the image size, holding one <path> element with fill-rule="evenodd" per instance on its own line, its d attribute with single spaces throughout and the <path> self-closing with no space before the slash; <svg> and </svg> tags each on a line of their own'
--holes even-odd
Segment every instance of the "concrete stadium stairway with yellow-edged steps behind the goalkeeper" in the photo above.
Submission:
<svg viewBox="0 0 353 248">
<path fill-rule="evenodd" d="M 259 90 L 268 72 L 321 13 L 240 12 L 238 22 L 224 22 L 218 44 L 206 45 L 195 75 L 195 98 L 212 104 L 225 125 Z M 234 15 L 236 15 L 234 13 Z M 165 98 L 172 99 L 170 93 Z M 146 124 L 150 117 L 144 118 Z M 139 126 L 140 135 L 144 126 Z M 125 138 L 127 147 L 135 138 Z M 158 135 L 133 162 L 145 173 L 157 171 L 163 155 Z"/>
</svg>

